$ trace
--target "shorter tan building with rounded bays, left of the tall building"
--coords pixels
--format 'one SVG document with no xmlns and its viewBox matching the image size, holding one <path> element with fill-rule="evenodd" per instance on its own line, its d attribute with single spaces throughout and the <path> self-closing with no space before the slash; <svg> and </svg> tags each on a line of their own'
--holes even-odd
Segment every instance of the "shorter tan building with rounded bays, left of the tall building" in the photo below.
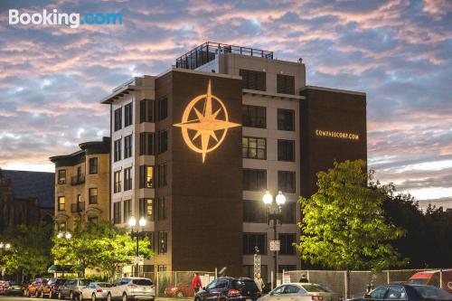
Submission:
<svg viewBox="0 0 452 301">
<path fill-rule="evenodd" d="M 71 155 L 50 157 L 55 164 L 55 223 L 61 231 L 77 221 L 109 221 L 109 137 L 81 143 Z"/>
</svg>

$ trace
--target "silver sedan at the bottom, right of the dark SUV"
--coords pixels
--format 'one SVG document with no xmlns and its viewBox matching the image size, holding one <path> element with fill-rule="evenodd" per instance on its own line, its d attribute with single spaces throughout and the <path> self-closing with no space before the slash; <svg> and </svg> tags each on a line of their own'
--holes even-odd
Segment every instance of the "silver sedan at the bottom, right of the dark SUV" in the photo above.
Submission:
<svg viewBox="0 0 452 301">
<path fill-rule="evenodd" d="M 343 297 L 315 283 L 288 283 L 275 287 L 259 301 L 342 301 Z"/>
</svg>

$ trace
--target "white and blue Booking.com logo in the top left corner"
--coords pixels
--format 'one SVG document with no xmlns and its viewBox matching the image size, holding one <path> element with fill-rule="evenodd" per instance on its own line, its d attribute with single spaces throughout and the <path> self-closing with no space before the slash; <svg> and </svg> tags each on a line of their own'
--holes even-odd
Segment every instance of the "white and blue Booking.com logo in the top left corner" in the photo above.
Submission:
<svg viewBox="0 0 452 301">
<path fill-rule="evenodd" d="M 9 10 L 9 24 L 49 24 L 49 25 L 69 25 L 71 28 L 78 28 L 80 24 L 122 24 L 122 14 L 110 13 L 110 14 L 84 14 L 80 18 L 78 13 L 58 13 L 57 9 L 53 9 L 51 13 L 47 10 L 42 10 L 41 13 L 19 14 L 17 9 Z"/>
</svg>

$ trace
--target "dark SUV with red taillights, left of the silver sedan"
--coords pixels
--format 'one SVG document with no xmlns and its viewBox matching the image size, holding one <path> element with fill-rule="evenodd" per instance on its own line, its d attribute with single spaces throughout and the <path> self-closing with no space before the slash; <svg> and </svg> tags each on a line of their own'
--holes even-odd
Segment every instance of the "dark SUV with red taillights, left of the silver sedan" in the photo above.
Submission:
<svg viewBox="0 0 452 301">
<path fill-rule="evenodd" d="M 256 301 L 259 296 L 259 288 L 251 278 L 220 277 L 196 293 L 194 301 Z"/>
</svg>

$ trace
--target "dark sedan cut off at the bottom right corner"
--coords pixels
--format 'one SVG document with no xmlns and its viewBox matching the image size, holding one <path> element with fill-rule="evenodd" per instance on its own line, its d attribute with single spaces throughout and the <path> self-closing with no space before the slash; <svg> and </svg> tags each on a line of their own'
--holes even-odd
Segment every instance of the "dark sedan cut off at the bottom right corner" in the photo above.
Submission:
<svg viewBox="0 0 452 301">
<path fill-rule="evenodd" d="M 372 292 L 364 295 L 363 298 L 353 299 L 353 301 L 368 300 L 449 301 L 452 300 L 452 295 L 439 287 L 393 284 L 376 287 Z"/>
</svg>

